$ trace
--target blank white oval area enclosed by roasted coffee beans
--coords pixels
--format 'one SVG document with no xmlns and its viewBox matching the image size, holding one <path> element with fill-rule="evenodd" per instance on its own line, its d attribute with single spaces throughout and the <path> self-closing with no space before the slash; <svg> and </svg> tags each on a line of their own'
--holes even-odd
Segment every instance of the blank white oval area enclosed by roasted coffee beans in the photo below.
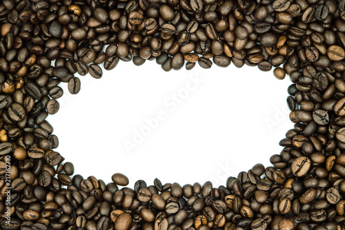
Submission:
<svg viewBox="0 0 345 230">
<path fill-rule="evenodd" d="M 155 178 L 180 185 L 210 180 L 218 187 L 256 163 L 269 166 L 293 128 L 286 106 L 290 79 L 279 81 L 257 67 L 164 72 L 155 61 L 140 67 L 120 61 L 101 79 L 79 77 L 79 94 L 63 83 L 60 110 L 48 121 L 59 137 L 56 151 L 84 178 L 111 182 L 120 172 L 130 187 L 139 179 L 152 185 Z M 162 121 L 149 127 L 157 113 Z"/>
</svg>

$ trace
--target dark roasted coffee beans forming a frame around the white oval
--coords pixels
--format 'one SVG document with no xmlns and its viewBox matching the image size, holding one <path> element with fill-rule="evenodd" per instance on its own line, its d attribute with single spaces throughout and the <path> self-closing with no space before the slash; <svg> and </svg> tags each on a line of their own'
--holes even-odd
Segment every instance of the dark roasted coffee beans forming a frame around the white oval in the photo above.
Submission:
<svg viewBox="0 0 345 230">
<path fill-rule="evenodd" d="M 0 30 L 0 229 L 345 229 L 345 0 L 1 0 Z M 75 174 L 46 121 L 59 84 L 154 59 L 290 76 L 272 165 L 218 188 Z"/>
</svg>

